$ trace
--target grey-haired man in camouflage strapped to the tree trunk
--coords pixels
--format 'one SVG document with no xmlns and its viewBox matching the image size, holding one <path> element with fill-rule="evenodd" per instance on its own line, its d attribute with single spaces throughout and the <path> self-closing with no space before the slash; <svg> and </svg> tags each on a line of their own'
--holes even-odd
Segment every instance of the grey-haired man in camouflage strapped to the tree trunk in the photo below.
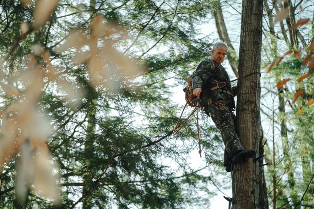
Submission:
<svg viewBox="0 0 314 209">
<path fill-rule="evenodd" d="M 231 171 L 230 162 L 237 164 L 246 162 L 247 158 L 255 156 L 254 149 L 244 150 L 239 137 L 235 132 L 235 106 L 233 96 L 236 96 L 236 86 L 231 88 L 230 83 L 219 84 L 219 89 L 211 90 L 219 82 L 230 82 L 225 68 L 221 65 L 228 52 L 225 43 L 215 43 L 211 51 L 212 58 L 203 60 L 196 68 L 192 77 L 193 95 L 201 97 L 200 106 L 211 116 L 219 129 L 225 144 L 224 166 L 226 171 Z"/>
</svg>

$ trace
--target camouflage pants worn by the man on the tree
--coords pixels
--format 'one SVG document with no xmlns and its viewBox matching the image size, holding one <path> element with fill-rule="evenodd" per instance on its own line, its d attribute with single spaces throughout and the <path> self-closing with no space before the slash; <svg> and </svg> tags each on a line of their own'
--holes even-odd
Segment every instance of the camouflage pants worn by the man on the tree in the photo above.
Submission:
<svg viewBox="0 0 314 209">
<path fill-rule="evenodd" d="M 224 165 L 228 165 L 230 157 L 239 151 L 244 150 L 239 137 L 235 131 L 235 115 L 231 114 L 228 102 L 225 100 L 218 100 L 214 103 L 208 103 L 208 111 L 213 122 L 220 131 L 222 140 L 225 144 Z"/>
</svg>

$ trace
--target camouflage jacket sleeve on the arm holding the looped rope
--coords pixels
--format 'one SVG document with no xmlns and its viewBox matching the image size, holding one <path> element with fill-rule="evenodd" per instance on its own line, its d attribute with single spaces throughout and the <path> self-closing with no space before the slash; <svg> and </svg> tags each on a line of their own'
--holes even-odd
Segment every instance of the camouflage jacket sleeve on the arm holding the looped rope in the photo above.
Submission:
<svg viewBox="0 0 314 209">
<path fill-rule="evenodd" d="M 194 76 L 192 77 L 193 89 L 199 87 L 202 88 L 204 82 L 207 81 L 211 74 L 213 62 L 212 60 L 203 60 L 196 68 Z"/>
</svg>

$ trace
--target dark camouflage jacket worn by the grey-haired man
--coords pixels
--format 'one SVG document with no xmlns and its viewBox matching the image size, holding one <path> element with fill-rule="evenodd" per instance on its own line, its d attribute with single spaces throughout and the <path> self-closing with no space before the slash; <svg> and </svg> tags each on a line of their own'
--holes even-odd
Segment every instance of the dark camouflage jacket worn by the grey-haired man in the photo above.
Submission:
<svg viewBox="0 0 314 209">
<path fill-rule="evenodd" d="M 212 61 L 210 59 L 205 59 L 197 66 L 195 73 L 192 77 L 192 86 L 193 86 L 193 89 L 197 87 L 202 89 L 201 106 L 204 106 L 205 104 L 210 105 L 216 100 L 225 100 L 229 103 L 229 106 L 231 108 L 236 108 L 235 103 L 234 103 L 234 98 L 229 94 L 225 94 L 225 93 L 217 92 L 217 91 L 210 91 L 209 93 L 204 95 L 205 89 L 217 86 L 217 83 L 222 82 L 222 81 L 228 83 L 230 82 L 230 79 L 225 68 L 219 63 Z M 230 83 L 222 87 L 221 89 L 230 91 L 234 95 L 236 94 L 236 88 L 232 89 Z"/>
</svg>

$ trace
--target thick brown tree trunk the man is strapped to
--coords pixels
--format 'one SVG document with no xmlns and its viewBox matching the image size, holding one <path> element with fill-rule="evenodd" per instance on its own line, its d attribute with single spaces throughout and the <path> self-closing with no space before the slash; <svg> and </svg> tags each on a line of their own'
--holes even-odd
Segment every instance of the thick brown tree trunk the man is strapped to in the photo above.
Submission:
<svg viewBox="0 0 314 209">
<path fill-rule="evenodd" d="M 239 77 L 260 72 L 262 18 L 263 0 L 242 0 Z M 259 149 L 260 85 L 259 74 L 238 82 L 236 132 L 245 149 Z M 259 208 L 259 167 L 252 159 L 235 165 L 232 192 L 232 209 Z"/>
</svg>

